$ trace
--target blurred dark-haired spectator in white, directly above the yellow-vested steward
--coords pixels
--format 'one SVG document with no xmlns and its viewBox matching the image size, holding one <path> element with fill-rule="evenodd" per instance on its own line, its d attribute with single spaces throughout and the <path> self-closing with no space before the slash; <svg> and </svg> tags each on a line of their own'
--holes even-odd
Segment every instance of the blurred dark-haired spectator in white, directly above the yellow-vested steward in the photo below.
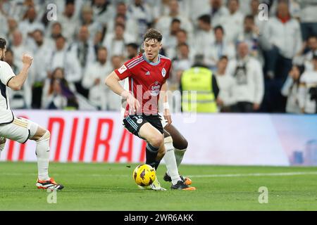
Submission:
<svg viewBox="0 0 317 225">
<path fill-rule="evenodd" d="M 215 34 L 213 32 L 213 27 L 211 27 L 210 15 L 201 15 L 198 18 L 199 31 L 197 32 L 197 37 L 195 38 L 195 49 L 197 54 L 204 54 L 204 49 L 206 46 L 211 46 L 215 41 Z"/>
</svg>

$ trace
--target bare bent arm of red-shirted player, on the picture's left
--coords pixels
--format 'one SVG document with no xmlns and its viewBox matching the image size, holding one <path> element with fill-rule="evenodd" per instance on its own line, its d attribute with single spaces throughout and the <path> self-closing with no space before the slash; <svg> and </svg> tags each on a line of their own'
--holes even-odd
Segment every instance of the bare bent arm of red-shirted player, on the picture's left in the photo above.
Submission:
<svg viewBox="0 0 317 225">
<path fill-rule="evenodd" d="M 130 107 L 136 112 L 140 108 L 139 101 L 135 99 L 129 91 L 123 89 L 123 87 L 119 83 L 120 78 L 116 74 L 116 72 L 111 72 L 105 79 L 105 84 L 116 94 L 122 96 L 123 98 L 127 99 L 127 103 Z"/>
</svg>

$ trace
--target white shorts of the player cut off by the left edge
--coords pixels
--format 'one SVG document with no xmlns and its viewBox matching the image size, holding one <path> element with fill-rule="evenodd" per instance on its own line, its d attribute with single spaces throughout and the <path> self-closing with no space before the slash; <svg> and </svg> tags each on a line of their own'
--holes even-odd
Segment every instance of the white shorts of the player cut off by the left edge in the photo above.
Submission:
<svg viewBox="0 0 317 225">
<path fill-rule="evenodd" d="M 11 124 L 0 125 L 0 136 L 19 143 L 25 143 L 37 132 L 38 124 L 25 118 L 14 117 Z"/>
</svg>

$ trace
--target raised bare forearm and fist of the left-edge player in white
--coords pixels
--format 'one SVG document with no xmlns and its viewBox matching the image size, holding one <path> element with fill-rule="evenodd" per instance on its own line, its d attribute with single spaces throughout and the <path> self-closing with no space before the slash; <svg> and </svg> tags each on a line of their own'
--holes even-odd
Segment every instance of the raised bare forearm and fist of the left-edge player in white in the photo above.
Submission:
<svg viewBox="0 0 317 225">
<path fill-rule="evenodd" d="M 31 67 L 32 62 L 33 62 L 32 56 L 24 54 L 22 57 L 22 63 L 23 63 L 22 70 L 20 71 L 18 75 L 12 77 L 8 81 L 7 86 L 15 91 L 20 90 L 25 82 L 25 79 L 27 79 L 27 72 L 29 71 L 29 68 Z"/>
</svg>

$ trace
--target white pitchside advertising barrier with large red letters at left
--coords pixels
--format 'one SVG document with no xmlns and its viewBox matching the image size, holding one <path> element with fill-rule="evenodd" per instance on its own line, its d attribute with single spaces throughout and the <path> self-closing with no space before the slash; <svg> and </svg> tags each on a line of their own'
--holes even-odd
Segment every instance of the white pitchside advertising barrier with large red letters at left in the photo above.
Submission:
<svg viewBox="0 0 317 225">
<path fill-rule="evenodd" d="M 144 162 L 145 142 L 123 129 L 120 113 L 15 110 L 51 131 L 51 161 Z M 184 164 L 317 165 L 317 115 L 175 114 L 187 138 Z M 1 161 L 36 161 L 35 142 L 7 141 Z"/>
</svg>

